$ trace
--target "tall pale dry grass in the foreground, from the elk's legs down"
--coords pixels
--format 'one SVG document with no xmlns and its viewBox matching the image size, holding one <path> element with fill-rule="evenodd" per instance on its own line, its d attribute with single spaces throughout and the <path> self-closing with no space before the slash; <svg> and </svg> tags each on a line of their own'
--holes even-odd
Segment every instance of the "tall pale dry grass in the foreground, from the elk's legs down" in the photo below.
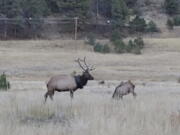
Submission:
<svg viewBox="0 0 180 135">
<path fill-rule="evenodd" d="M 111 93 L 58 93 L 43 104 L 42 91 L 3 92 L 0 132 L 5 135 L 177 135 L 179 102 L 170 92 L 138 92 L 123 101 Z"/>
</svg>

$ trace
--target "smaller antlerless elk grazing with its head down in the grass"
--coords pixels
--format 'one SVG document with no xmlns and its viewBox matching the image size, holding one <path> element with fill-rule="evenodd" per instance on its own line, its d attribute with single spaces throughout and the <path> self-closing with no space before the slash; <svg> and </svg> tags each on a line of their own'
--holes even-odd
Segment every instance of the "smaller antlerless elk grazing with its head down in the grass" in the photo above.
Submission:
<svg viewBox="0 0 180 135">
<path fill-rule="evenodd" d="M 136 93 L 134 92 L 135 85 L 129 80 L 127 82 L 121 82 L 118 85 L 113 93 L 112 98 L 114 99 L 123 99 L 124 95 L 132 93 L 134 97 L 136 97 Z"/>
</svg>

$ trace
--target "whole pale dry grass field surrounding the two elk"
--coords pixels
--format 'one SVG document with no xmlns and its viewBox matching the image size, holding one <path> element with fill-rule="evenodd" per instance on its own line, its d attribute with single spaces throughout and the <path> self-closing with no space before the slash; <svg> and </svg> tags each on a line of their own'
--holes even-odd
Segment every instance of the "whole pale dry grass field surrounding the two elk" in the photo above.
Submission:
<svg viewBox="0 0 180 135">
<path fill-rule="evenodd" d="M 12 84 L 0 92 L 0 134 L 178 135 L 180 39 L 145 42 L 142 55 L 104 55 L 84 41 L 0 41 L 0 73 Z M 96 67 L 96 80 L 76 91 L 72 102 L 69 93 L 56 93 L 53 102 L 43 104 L 50 76 L 80 73 L 74 60 L 84 56 Z M 128 79 L 137 98 L 112 100 L 114 88 Z"/>
</svg>

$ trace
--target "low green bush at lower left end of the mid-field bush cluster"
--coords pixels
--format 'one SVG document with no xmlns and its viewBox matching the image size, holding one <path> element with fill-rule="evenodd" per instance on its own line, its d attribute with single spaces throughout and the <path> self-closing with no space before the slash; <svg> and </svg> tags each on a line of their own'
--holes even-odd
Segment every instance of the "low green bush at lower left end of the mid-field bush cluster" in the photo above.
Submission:
<svg viewBox="0 0 180 135">
<path fill-rule="evenodd" d="M 99 53 L 109 53 L 110 48 L 107 44 L 103 45 L 101 43 L 96 43 L 96 45 L 94 46 L 94 51 Z"/>
</svg>

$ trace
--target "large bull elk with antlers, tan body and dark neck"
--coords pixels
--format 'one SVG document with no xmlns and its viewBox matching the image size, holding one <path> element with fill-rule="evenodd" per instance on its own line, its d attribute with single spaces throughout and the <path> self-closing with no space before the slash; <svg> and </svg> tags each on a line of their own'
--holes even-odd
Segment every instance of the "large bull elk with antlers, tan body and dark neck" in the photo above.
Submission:
<svg viewBox="0 0 180 135">
<path fill-rule="evenodd" d="M 49 96 L 53 100 L 53 95 L 55 91 L 58 92 L 70 92 L 71 99 L 73 94 L 77 89 L 82 89 L 88 82 L 88 80 L 94 80 L 94 77 L 90 74 L 90 71 L 95 68 L 90 68 L 86 63 L 86 57 L 83 60 L 78 58 L 75 60 L 81 69 L 83 70 L 82 75 L 57 75 L 50 78 L 47 83 L 47 92 L 44 95 L 45 102 Z M 84 63 L 84 66 L 82 63 Z"/>
</svg>

